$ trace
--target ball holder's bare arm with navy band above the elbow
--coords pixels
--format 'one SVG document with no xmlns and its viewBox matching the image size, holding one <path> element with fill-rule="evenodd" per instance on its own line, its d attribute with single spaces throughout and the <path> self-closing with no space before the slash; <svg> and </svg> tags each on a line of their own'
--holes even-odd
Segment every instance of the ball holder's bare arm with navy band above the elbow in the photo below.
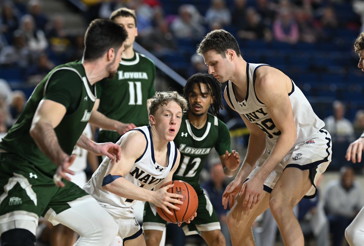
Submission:
<svg viewBox="0 0 364 246">
<path fill-rule="evenodd" d="M 112 178 L 113 181 L 103 185 L 103 189 L 112 192 L 118 196 L 126 197 L 132 200 L 150 201 L 158 207 L 163 208 L 171 214 L 168 208 L 179 209 L 173 203 L 182 204 L 182 196 L 168 193 L 167 190 L 173 185 L 167 185 L 158 191 L 149 191 L 132 184 L 123 177 L 130 172 L 135 160 L 137 160 L 145 150 L 147 145 L 144 135 L 139 131 L 127 132 L 118 141 L 121 147 L 120 161 L 110 165 L 105 177 Z"/>
</svg>

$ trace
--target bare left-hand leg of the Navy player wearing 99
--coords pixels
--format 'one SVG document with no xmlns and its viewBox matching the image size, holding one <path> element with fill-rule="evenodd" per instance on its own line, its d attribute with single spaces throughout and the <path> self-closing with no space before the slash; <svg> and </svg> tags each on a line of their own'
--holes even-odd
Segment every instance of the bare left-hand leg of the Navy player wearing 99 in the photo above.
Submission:
<svg viewBox="0 0 364 246">
<path fill-rule="evenodd" d="M 254 220 L 269 207 L 269 193 L 263 191 L 261 200 L 252 210 L 246 211 L 243 207 L 244 196 L 237 196 L 236 202 L 227 214 L 227 226 L 233 246 L 254 246 L 252 224 Z"/>
</svg>

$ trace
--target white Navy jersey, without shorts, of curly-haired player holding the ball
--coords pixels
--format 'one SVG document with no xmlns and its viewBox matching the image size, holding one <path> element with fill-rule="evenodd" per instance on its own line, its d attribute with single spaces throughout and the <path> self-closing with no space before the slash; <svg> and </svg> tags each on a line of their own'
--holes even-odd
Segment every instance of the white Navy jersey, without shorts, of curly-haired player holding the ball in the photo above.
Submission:
<svg viewBox="0 0 364 246">
<path fill-rule="evenodd" d="M 167 154 L 169 156 L 168 165 L 163 167 L 155 162 L 153 139 L 150 130 L 150 126 L 142 126 L 131 130 L 142 132 L 147 141 L 147 145 L 142 156 L 135 161 L 130 172 L 123 177 L 133 184 L 148 190 L 152 190 L 168 176 L 170 170 L 175 165 L 178 152 L 174 142 L 170 141 L 167 145 Z M 127 133 L 125 135 L 127 135 Z M 120 143 L 120 140 L 116 144 L 118 143 Z M 118 210 L 118 208 L 131 208 L 132 205 L 136 203 L 135 200 L 120 197 L 102 188 L 102 181 L 105 177 L 107 166 L 109 164 L 110 159 L 105 158 L 83 189 L 98 200 L 101 205 L 109 207 L 109 209 L 110 205 L 111 207 L 114 207 L 112 208 L 114 210 Z"/>
</svg>

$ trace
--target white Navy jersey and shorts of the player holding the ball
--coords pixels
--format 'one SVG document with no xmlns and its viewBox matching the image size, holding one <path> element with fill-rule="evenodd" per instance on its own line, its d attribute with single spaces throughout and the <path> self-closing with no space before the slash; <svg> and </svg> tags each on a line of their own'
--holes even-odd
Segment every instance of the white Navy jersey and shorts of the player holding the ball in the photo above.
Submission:
<svg viewBox="0 0 364 246">
<path fill-rule="evenodd" d="M 135 161 L 130 172 L 123 178 L 139 187 L 152 190 L 168 176 L 170 170 L 175 165 L 178 153 L 177 147 L 173 141 L 168 143 L 168 165 L 166 167 L 161 166 L 155 162 L 150 126 L 138 127 L 131 131 L 142 132 L 147 141 L 147 145 L 144 153 Z M 124 134 L 124 136 L 127 134 Z M 121 140 L 116 144 L 120 144 L 120 142 Z M 136 201 L 120 197 L 102 188 L 103 178 L 106 176 L 105 174 L 109 164 L 110 159 L 105 158 L 83 189 L 91 194 L 114 217 L 119 225 L 119 235 L 122 237 L 123 242 L 125 242 L 126 240 L 139 237 L 143 230 L 139 226 L 138 220 L 135 219 L 132 208 Z"/>
</svg>

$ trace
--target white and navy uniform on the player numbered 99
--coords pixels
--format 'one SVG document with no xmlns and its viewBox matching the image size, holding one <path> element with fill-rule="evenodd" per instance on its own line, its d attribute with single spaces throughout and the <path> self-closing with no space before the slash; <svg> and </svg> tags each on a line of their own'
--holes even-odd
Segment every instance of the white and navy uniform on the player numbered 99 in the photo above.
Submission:
<svg viewBox="0 0 364 246">
<path fill-rule="evenodd" d="M 256 168 L 248 178 L 253 177 L 269 157 L 273 146 L 276 144 L 281 132 L 274 125 L 268 113 L 266 105 L 257 97 L 254 85 L 256 70 L 266 64 L 247 63 L 247 92 L 244 101 L 236 99 L 233 82 L 229 81 L 226 86 L 227 96 L 234 109 L 249 122 L 256 123 L 265 132 L 266 151 L 257 161 Z M 281 176 L 283 170 L 288 167 L 295 167 L 301 170 L 310 170 L 309 178 L 312 187 L 306 193 L 306 198 L 316 196 L 316 182 L 321 173 L 325 172 L 331 162 L 331 136 L 324 130 L 325 123 L 317 117 L 313 109 L 303 95 L 302 91 L 292 81 L 292 91 L 288 93 L 292 104 L 293 119 L 297 128 L 297 140 L 292 149 L 277 167 L 269 174 L 264 182 L 264 190 L 272 192 L 274 185 Z"/>
</svg>

